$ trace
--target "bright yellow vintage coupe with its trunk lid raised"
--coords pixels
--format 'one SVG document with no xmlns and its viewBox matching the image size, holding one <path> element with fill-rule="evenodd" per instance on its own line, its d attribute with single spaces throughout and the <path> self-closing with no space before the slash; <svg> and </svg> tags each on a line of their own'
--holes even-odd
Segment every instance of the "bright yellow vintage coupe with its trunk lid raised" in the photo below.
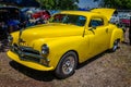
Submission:
<svg viewBox="0 0 131 87">
<path fill-rule="evenodd" d="M 9 36 L 8 55 L 27 67 L 72 75 L 79 63 L 110 49 L 116 51 L 123 32 L 109 20 L 115 10 L 63 11 L 50 22 Z"/>
</svg>

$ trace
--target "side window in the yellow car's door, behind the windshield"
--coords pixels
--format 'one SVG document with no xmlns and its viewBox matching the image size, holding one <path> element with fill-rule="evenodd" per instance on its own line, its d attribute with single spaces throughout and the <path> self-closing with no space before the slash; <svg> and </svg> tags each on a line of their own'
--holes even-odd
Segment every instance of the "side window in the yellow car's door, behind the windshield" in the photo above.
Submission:
<svg viewBox="0 0 131 87">
<path fill-rule="evenodd" d="M 103 25 L 104 25 L 104 20 L 99 17 L 94 17 L 90 22 L 90 27 L 97 27 Z"/>
</svg>

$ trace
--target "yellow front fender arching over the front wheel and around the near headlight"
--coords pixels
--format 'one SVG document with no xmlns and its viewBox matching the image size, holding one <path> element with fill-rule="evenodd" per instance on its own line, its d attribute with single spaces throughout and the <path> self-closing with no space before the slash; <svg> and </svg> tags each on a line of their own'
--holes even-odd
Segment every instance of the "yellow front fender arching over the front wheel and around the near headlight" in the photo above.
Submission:
<svg viewBox="0 0 131 87">
<path fill-rule="evenodd" d="M 58 38 L 43 38 L 34 40 L 34 49 L 40 51 L 41 45 L 46 44 L 49 47 L 48 59 L 50 60 L 49 65 L 56 66 L 58 65 L 61 57 L 70 50 L 73 50 L 78 53 L 78 58 L 80 58 L 79 62 L 82 62 L 85 58 L 85 44 L 90 41 L 82 36 L 71 36 L 71 37 L 58 37 Z M 88 45 L 86 45 L 88 47 Z M 82 59 L 81 59 L 82 58 Z"/>
</svg>

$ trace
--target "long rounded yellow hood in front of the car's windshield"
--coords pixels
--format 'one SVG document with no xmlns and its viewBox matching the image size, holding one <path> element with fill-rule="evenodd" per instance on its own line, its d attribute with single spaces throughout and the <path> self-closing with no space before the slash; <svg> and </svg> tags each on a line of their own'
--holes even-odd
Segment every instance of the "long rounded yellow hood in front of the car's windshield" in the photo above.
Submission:
<svg viewBox="0 0 131 87">
<path fill-rule="evenodd" d="M 28 27 L 24 30 L 14 33 L 14 38 L 21 37 L 24 41 L 32 42 L 36 39 L 69 37 L 69 36 L 82 36 L 84 28 L 81 26 L 70 24 L 43 24 L 38 26 Z M 20 35 L 20 36 L 19 36 Z"/>
</svg>

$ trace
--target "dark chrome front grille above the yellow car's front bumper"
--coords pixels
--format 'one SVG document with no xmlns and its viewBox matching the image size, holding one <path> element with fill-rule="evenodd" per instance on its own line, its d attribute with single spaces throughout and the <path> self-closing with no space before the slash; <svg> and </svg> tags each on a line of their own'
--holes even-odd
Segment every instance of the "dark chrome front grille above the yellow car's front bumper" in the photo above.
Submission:
<svg viewBox="0 0 131 87">
<path fill-rule="evenodd" d="M 48 66 L 49 61 L 43 55 L 40 55 L 39 51 L 34 50 L 31 47 L 17 46 L 16 44 L 13 44 L 11 46 L 11 51 L 16 53 L 23 61 L 37 62 Z"/>
</svg>

